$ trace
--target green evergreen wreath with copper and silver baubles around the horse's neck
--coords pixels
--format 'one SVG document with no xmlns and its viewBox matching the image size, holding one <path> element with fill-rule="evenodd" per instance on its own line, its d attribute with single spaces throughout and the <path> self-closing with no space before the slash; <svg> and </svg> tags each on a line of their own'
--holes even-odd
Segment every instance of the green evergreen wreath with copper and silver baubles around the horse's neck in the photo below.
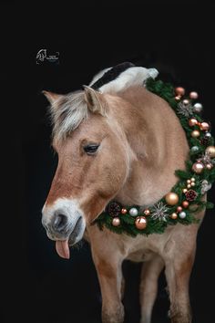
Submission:
<svg viewBox="0 0 215 323">
<path fill-rule="evenodd" d="M 197 92 L 185 97 L 185 89 L 148 78 L 146 88 L 169 102 L 179 117 L 189 142 L 186 170 L 176 171 L 179 182 L 158 203 L 144 209 L 140 205 L 107 204 L 106 210 L 94 221 L 100 230 L 106 226 L 117 234 L 162 234 L 168 225 L 198 224 L 195 214 L 213 203 L 203 201 L 203 195 L 215 181 L 215 147 L 210 124 L 201 119 L 202 105 Z"/>
</svg>

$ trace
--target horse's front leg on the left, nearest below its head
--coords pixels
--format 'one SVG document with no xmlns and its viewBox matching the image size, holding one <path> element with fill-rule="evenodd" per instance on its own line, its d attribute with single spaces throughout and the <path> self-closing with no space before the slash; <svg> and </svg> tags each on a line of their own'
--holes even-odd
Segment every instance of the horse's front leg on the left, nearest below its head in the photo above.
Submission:
<svg viewBox="0 0 215 323">
<path fill-rule="evenodd" d="M 93 252 L 94 264 L 102 295 L 102 323 L 123 323 L 122 260 L 120 255 L 99 255 Z"/>
</svg>

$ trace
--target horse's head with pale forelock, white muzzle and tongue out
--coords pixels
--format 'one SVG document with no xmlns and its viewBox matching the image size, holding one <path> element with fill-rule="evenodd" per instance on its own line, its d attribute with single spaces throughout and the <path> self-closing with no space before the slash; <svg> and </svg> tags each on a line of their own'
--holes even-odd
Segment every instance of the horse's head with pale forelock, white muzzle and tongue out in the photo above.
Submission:
<svg viewBox="0 0 215 323">
<path fill-rule="evenodd" d="M 42 223 L 58 254 L 68 257 L 68 245 L 82 238 L 86 225 L 127 181 L 131 154 L 121 130 L 124 120 L 115 118 L 118 97 L 87 87 L 68 95 L 44 93 L 51 103 L 58 165 Z"/>
</svg>

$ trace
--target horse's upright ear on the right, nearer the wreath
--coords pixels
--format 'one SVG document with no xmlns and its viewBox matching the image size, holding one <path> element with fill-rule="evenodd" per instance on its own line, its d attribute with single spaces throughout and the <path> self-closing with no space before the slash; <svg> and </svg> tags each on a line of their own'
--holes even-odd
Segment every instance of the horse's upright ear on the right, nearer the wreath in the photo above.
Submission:
<svg viewBox="0 0 215 323">
<path fill-rule="evenodd" d="M 93 113 L 99 113 L 102 116 L 106 116 L 107 101 L 104 99 L 104 96 L 95 89 L 87 87 L 87 85 L 84 85 L 83 87 L 85 89 L 85 100 L 88 109 Z"/>
</svg>

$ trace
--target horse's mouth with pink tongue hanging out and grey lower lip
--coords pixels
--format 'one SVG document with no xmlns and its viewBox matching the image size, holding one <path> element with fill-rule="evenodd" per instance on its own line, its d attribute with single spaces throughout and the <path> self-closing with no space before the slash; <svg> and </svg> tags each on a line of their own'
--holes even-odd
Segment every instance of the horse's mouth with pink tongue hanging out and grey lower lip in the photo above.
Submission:
<svg viewBox="0 0 215 323">
<path fill-rule="evenodd" d="M 71 234 L 69 234 L 68 238 L 65 240 L 56 240 L 56 252 L 62 258 L 69 259 L 70 251 L 69 246 L 75 245 L 82 236 L 81 234 L 81 225 L 82 225 L 82 217 L 80 216 L 77 220 L 76 225 L 73 228 Z"/>
</svg>

